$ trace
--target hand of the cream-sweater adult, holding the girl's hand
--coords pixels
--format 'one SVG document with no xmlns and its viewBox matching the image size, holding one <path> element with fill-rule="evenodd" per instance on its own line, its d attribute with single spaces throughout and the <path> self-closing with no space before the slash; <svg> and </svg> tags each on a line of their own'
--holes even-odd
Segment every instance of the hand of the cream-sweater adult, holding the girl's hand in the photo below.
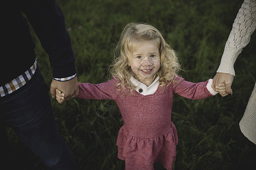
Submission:
<svg viewBox="0 0 256 170">
<path fill-rule="evenodd" d="M 227 94 L 233 94 L 232 91 L 232 83 L 234 80 L 234 75 L 228 73 L 217 73 L 212 81 L 212 88 L 216 91 L 216 87 L 219 86 L 220 83 L 225 83 L 226 93 L 220 93 L 221 96 L 226 96 Z"/>
</svg>

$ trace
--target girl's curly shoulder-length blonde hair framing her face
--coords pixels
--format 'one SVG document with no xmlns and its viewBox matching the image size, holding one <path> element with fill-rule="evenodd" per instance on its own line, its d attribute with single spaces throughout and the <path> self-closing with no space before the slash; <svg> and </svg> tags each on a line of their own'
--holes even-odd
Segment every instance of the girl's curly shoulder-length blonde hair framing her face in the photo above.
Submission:
<svg viewBox="0 0 256 170">
<path fill-rule="evenodd" d="M 160 69 L 157 75 L 160 77 L 160 86 L 169 85 L 174 81 L 175 76 L 180 70 L 177 54 L 170 45 L 165 42 L 161 33 L 149 24 L 129 23 L 121 33 L 119 42 L 114 49 L 114 62 L 111 65 L 110 73 L 119 80 L 116 87 L 134 89 L 129 81 L 133 75 L 131 67 L 128 65 L 129 57 L 140 42 L 151 41 L 159 46 L 160 50 Z"/>
</svg>

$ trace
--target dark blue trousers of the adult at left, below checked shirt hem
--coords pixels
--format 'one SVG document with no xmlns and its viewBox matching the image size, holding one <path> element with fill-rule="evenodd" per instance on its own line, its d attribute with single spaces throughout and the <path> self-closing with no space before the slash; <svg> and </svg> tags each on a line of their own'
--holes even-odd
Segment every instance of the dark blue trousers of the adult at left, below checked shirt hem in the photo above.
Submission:
<svg viewBox="0 0 256 170">
<path fill-rule="evenodd" d="M 20 141 L 48 169 L 76 169 L 73 155 L 58 133 L 49 87 L 44 83 L 38 66 L 36 73 L 23 87 L 0 97 L 0 119 L 15 131 Z"/>
</svg>

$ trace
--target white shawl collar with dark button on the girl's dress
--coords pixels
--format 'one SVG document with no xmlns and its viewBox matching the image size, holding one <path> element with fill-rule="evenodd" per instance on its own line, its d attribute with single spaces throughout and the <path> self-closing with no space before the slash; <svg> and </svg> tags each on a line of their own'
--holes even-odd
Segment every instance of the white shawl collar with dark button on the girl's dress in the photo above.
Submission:
<svg viewBox="0 0 256 170">
<path fill-rule="evenodd" d="M 131 76 L 130 80 L 134 84 L 135 90 L 144 96 L 154 94 L 154 92 L 157 91 L 157 88 L 159 86 L 159 76 L 157 76 L 157 78 L 154 79 L 150 86 L 146 86 L 146 84 L 136 80 L 133 76 Z"/>
</svg>

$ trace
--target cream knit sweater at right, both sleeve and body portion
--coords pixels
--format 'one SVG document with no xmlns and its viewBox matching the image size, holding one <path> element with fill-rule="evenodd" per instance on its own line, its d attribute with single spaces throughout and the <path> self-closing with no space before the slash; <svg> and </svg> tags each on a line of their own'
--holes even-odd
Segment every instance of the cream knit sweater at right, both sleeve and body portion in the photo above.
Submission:
<svg viewBox="0 0 256 170">
<path fill-rule="evenodd" d="M 245 0 L 234 20 L 228 41 L 226 41 L 218 73 L 235 75 L 234 62 L 249 43 L 255 28 L 256 0 Z M 256 83 L 239 125 L 245 137 L 256 144 Z"/>
</svg>

